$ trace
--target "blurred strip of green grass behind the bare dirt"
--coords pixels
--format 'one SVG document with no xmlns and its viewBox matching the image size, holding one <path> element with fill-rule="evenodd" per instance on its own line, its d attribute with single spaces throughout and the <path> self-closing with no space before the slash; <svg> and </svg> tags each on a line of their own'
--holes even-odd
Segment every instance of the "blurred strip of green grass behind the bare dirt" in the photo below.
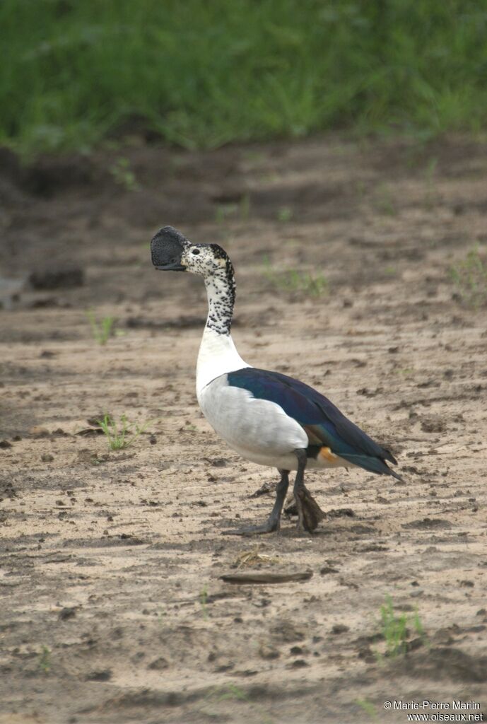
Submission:
<svg viewBox="0 0 487 724">
<path fill-rule="evenodd" d="M 83 150 L 137 117 L 187 148 L 487 124 L 487 4 L 2 0 L 0 143 Z"/>
</svg>

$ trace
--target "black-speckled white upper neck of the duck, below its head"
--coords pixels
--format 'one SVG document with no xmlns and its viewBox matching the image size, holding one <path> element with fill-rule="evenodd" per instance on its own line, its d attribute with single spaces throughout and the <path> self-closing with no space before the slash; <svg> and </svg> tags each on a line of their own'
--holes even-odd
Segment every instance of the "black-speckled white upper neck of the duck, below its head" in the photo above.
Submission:
<svg viewBox="0 0 487 724">
<path fill-rule="evenodd" d="M 208 295 L 206 327 L 217 334 L 230 334 L 235 303 L 234 269 L 228 254 L 221 246 L 210 246 L 216 260 L 216 269 L 204 277 Z"/>
</svg>

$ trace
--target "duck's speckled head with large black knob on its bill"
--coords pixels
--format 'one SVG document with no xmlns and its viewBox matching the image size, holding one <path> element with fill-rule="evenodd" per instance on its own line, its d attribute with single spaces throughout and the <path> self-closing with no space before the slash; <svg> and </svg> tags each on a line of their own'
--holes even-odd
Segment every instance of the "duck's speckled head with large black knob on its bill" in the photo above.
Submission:
<svg viewBox="0 0 487 724">
<path fill-rule="evenodd" d="M 160 271 L 192 271 L 212 277 L 220 271 L 229 274 L 231 263 L 218 244 L 192 244 L 174 227 L 163 227 L 151 240 L 152 263 Z M 233 275 L 233 269 L 232 269 Z"/>
</svg>

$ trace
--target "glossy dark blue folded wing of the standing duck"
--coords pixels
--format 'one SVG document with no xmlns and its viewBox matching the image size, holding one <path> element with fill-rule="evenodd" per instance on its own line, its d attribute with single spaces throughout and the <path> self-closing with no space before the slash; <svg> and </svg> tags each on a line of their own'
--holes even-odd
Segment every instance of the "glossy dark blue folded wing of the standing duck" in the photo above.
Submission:
<svg viewBox="0 0 487 724">
<path fill-rule="evenodd" d="M 242 387 L 261 400 L 269 400 L 284 410 L 289 417 L 310 429 L 341 458 L 374 473 L 386 473 L 399 478 L 385 460 L 396 463 L 389 450 L 385 450 L 353 424 L 339 409 L 304 382 L 279 372 L 247 367 L 229 372 L 232 387 Z"/>
</svg>

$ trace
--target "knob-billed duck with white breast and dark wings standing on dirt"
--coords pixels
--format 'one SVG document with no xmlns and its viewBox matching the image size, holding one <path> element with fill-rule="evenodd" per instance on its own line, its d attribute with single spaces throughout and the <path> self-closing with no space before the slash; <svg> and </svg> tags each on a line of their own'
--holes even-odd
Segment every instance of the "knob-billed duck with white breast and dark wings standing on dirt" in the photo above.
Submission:
<svg viewBox="0 0 487 724">
<path fill-rule="evenodd" d="M 388 465 L 397 465 L 390 450 L 368 437 L 321 392 L 280 372 L 253 367 L 240 357 L 231 334 L 234 267 L 221 246 L 191 243 L 166 226 L 151 240 L 151 261 L 158 271 L 187 271 L 205 283 L 208 316 L 196 365 L 196 397 L 206 420 L 242 458 L 279 471 L 267 520 L 225 532 L 279 531 L 291 471 L 301 534 L 315 531 L 325 517 L 305 486 L 305 471 L 363 468 L 402 481 Z"/>
</svg>

